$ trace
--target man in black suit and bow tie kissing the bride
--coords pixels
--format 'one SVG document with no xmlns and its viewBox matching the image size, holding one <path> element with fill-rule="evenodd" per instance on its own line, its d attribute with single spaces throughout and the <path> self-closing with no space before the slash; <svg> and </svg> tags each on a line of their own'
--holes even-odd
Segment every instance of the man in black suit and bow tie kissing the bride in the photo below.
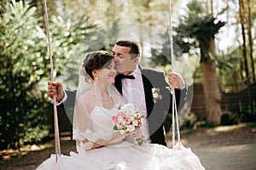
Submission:
<svg viewBox="0 0 256 170">
<path fill-rule="evenodd" d="M 172 113 L 170 85 L 175 88 L 177 108 L 186 99 L 187 88 L 182 77 L 170 72 L 168 82 L 163 71 L 144 68 L 139 65 L 141 45 L 131 40 L 119 40 L 113 46 L 116 70 L 114 85 L 125 98 L 134 103 L 139 111 L 147 112 L 147 119 L 141 128 L 149 143 L 166 145 L 164 121 L 167 113 Z M 63 91 L 59 82 L 48 83 L 50 98 L 56 95 L 57 102 L 73 107 L 76 91 Z"/>
</svg>

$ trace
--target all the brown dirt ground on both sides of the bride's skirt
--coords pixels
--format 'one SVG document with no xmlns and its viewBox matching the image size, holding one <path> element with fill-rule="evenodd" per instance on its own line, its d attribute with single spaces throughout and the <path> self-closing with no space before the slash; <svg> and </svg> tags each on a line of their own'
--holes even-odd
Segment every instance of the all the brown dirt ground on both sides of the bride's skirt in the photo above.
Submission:
<svg viewBox="0 0 256 170">
<path fill-rule="evenodd" d="M 197 128 L 181 131 L 182 144 L 189 147 L 208 170 L 253 170 L 256 169 L 256 124 Z M 172 147 L 172 137 L 167 134 L 167 143 Z M 23 149 L 19 155 L 15 151 L 0 151 L 0 169 L 35 169 L 55 153 L 54 142 L 33 145 Z M 33 150 L 33 151 L 32 151 Z M 75 151 L 72 140 L 61 140 L 61 153 L 69 155 Z"/>
</svg>

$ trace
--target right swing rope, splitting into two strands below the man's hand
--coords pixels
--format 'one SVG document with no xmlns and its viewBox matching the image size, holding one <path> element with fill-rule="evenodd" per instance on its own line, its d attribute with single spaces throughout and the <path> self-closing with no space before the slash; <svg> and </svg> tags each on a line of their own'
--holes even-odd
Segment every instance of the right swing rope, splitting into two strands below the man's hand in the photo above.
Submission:
<svg viewBox="0 0 256 170">
<path fill-rule="evenodd" d="M 173 56 L 173 41 L 172 41 L 172 0 L 169 0 L 169 31 L 170 31 L 170 50 L 171 50 L 171 59 L 172 59 L 172 72 L 174 72 L 174 56 Z M 175 125 L 177 130 L 177 143 L 180 148 L 180 133 L 177 117 L 177 104 L 175 97 L 175 89 L 172 90 L 172 148 L 175 145 Z"/>
</svg>

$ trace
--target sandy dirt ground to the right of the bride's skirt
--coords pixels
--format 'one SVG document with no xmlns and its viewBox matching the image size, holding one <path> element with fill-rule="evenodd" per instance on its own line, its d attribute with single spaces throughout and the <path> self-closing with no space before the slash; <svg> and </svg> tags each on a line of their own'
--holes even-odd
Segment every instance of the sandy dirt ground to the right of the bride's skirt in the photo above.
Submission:
<svg viewBox="0 0 256 170">
<path fill-rule="evenodd" d="M 207 170 L 256 169 L 255 124 L 189 130 L 181 138 Z"/>
</svg>

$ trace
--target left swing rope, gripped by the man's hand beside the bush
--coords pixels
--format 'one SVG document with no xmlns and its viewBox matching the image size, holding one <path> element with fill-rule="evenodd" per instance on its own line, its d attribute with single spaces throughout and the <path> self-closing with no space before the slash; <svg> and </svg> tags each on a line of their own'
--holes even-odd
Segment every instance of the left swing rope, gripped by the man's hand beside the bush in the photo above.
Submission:
<svg viewBox="0 0 256 170">
<path fill-rule="evenodd" d="M 46 0 L 44 0 L 44 17 L 45 17 L 45 28 L 47 32 L 47 42 L 48 42 L 48 48 L 49 48 L 50 81 L 54 82 L 53 61 L 52 61 L 51 43 L 50 43 L 50 37 L 49 37 L 49 21 L 48 21 Z M 60 135 L 59 135 L 58 114 L 57 114 L 55 96 L 53 98 L 53 104 L 54 104 L 54 125 L 55 125 L 55 156 L 56 156 L 56 161 L 58 161 L 58 157 L 61 156 L 61 142 L 60 142 Z"/>
</svg>

